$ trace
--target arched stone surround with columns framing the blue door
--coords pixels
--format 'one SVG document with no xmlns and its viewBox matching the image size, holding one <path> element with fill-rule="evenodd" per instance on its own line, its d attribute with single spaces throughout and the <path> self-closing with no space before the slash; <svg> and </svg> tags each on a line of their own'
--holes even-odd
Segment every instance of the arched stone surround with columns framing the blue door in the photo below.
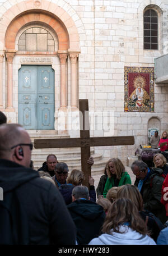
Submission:
<svg viewBox="0 0 168 256">
<path fill-rule="evenodd" d="M 20 4 L 16 4 L 15 7 L 11 8 L 11 11 L 13 9 L 16 13 L 16 7 L 18 11 L 19 5 Z M 55 12 L 55 10 L 57 10 L 57 12 Z M 57 13 L 57 15 L 55 15 L 53 11 Z M 63 13 L 64 15 L 62 15 Z M 9 21 L 6 20 L 5 26 L 7 27 L 4 36 L 4 46 L 6 47 L 5 55 L 7 60 L 6 109 L 8 109 L 8 112 L 18 112 L 16 107 L 16 101 L 18 101 L 18 99 L 13 97 L 13 90 L 16 91 L 16 84 L 18 86 L 16 69 L 18 71 L 23 65 L 49 65 L 53 68 L 56 77 L 54 82 L 55 112 L 58 109 L 67 109 L 67 81 L 70 81 L 71 99 L 69 102 L 71 102 L 71 107 L 76 109 L 78 100 L 77 61 L 80 48 L 76 26 L 68 13 L 58 7 L 57 4 L 51 3 L 48 11 L 34 9 L 25 10 L 22 13 L 18 13 L 13 19 Z M 48 47 L 47 49 L 42 47 L 42 49 L 37 49 L 38 51 L 36 51 L 36 49 L 29 47 L 27 49 L 24 48 L 23 45 L 19 43 L 19 40 L 24 30 L 26 31 L 29 28 L 46 29 L 49 34 L 53 36 L 54 49 L 52 49 L 52 47 Z M 34 35 L 32 35 L 32 38 L 33 37 Z M 50 40 L 49 43 L 51 42 L 52 40 Z M 67 65 L 68 61 L 70 66 Z M 69 71 L 67 71 L 67 68 L 69 68 Z M 15 73 L 15 79 L 13 79 L 13 72 Z M 71 78 L 68 77 L 68 75 L 70 75 Z"/>
</svg>

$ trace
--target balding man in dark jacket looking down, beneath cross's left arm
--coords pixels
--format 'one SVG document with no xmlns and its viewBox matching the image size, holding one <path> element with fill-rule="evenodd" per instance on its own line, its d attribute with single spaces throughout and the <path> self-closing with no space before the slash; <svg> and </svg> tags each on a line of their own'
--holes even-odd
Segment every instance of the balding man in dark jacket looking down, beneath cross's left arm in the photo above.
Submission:
<svg viewBox="0 0 168 256">
<path fill-rule="evenodd" d="M 41 166 L 38 171 L 48 172 L 50 176 L 53 177 L 55 175 L 54 168 L 57 163 L 57 157 L 54 154 L 49 154 L 46 157 L 46 161 L 43 163 L 43 166 Z"/>
</svg>

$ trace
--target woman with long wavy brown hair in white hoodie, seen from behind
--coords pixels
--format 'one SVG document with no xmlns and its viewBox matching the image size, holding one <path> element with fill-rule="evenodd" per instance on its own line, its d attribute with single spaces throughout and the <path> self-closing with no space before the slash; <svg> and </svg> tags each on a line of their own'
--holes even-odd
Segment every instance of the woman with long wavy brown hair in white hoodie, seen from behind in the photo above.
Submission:
<svg viewBox="0 0 168 256">
<path fill-rule="evenodd" d="M 102 235 L 89 245 L 156 245 L 148 236 L 146 223 L 130 199 L 119 198 L 111 204 L 102 226 Z"/>
</svg>

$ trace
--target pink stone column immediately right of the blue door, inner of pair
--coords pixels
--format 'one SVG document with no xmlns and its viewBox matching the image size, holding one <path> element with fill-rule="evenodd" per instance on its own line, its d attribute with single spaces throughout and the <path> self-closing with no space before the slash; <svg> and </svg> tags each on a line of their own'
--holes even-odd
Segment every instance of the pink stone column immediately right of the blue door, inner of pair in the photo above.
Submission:
<svg viewBox="0 0 168 256">
<path fill-rule="evenodd" d="M 67 74 L 66 74 L 66 60 L 67 53 L 58 53 L 60 59 L 60 108 L 67 108 Z"/>
</svg>

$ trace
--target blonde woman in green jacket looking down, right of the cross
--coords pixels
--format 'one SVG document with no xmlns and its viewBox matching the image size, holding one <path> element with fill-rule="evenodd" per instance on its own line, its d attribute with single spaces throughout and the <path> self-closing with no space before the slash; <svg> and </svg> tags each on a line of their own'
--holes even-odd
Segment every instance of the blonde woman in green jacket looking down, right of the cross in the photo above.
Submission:
<svg viewBox="0 0 168 256">
<path fill-rule="evenodd" d="M 107 174 L 108 179 L 105 184 L 103 196 L 106 198 L 108 190 L 114 186 L 122 186 L 125 184 L 131 184 L 130 176 L 128 172 L 125 172 L 125 167 L 118 158 L 111 158 L 108 163 Z"/>
</svg>

